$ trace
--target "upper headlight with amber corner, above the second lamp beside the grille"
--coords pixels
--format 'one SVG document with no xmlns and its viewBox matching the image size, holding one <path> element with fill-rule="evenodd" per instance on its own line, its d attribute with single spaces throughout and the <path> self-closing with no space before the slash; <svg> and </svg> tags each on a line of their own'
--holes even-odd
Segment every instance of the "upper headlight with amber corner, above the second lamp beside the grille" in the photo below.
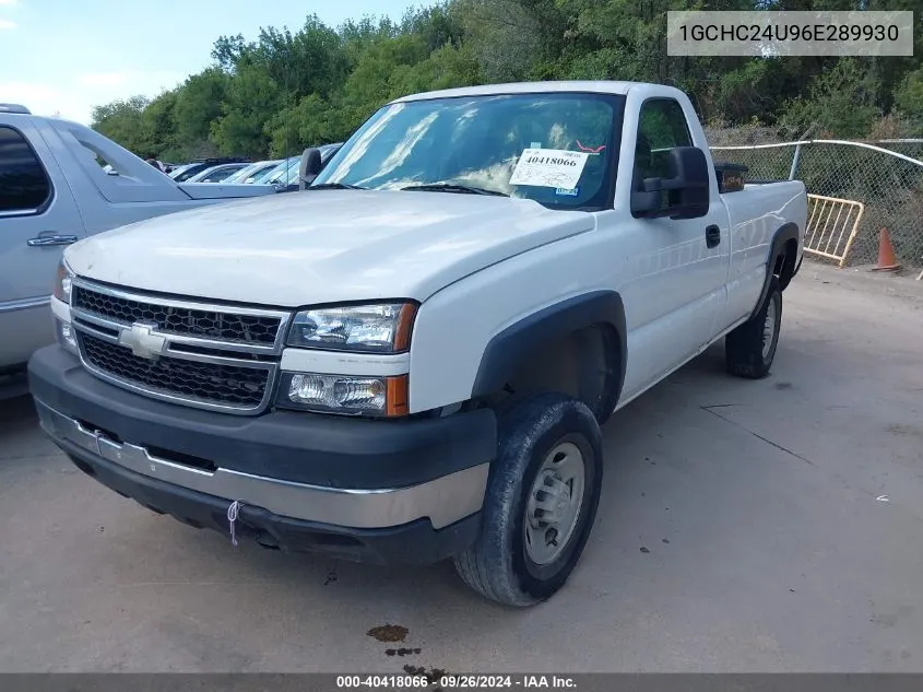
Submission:
<svg viewBox="0 0 923 692">
<path fill-rule="evenodd" d="M 372 353 L 406 351 L 411 342 L 414 303 L 381 303 L 319 307 L 295 315 L 288 345 Z"/>
</svg>

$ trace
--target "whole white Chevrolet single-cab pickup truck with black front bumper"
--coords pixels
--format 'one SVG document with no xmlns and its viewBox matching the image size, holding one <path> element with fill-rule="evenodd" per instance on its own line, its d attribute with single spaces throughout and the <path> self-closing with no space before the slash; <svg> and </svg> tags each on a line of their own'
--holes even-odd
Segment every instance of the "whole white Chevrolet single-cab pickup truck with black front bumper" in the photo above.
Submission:
<svg viewBox="0 0 923 692">
<path fill-rule="evenodd" d="M 68 248 L 59 343 L 29 362 L 42 425 L 191 526 L 453 558 L 535 603 L 590 535 L 600 425 L 719 339 L 734 375 L 772 364 L 805 189 L 725 177 L 668 86 L 400 98 L 304 193 Z"/>
</svg>

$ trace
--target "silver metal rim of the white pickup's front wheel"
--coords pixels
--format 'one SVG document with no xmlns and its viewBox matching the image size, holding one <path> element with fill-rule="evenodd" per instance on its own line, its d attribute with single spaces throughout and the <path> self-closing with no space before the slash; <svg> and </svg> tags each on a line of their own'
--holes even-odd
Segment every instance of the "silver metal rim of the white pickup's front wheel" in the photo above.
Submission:
<svg viewBox="0 0 923 692">
<path fill-rule="evenodd" d="M 583 504 L 583 454 L 571 442 L 545 457 L 525 507 L 525 552 L 540 565 L 554 562 L 570 541 Z"/>
</svg>

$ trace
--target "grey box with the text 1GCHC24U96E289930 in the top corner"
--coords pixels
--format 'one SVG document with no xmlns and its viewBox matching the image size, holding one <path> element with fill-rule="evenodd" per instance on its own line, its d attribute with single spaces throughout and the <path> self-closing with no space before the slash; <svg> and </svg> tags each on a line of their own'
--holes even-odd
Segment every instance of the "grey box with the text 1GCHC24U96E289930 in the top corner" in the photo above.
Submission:
<svg viewBox="0 0 923 692">
<path fill-rule="evenodd" d="M 667 12 L 670 56 L 912 56 L 912 12 Z"/>
</svg>

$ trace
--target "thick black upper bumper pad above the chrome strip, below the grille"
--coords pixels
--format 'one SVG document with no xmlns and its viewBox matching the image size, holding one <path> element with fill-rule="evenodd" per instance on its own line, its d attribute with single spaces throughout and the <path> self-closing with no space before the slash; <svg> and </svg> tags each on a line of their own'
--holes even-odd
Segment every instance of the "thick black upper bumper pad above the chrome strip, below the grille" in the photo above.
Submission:
<svg viewBox="0 0 923 692">
<path fill-rule="evenodd" d="M 297 411 L 227 415 L 105 383 L 58 345 L 36 351 L 28 376 L 36 399 L 118 439 L 296 483 L 407 488 L 492 461 L 497 448 L 488 409 L 403 421 Z"/>
</svg>

